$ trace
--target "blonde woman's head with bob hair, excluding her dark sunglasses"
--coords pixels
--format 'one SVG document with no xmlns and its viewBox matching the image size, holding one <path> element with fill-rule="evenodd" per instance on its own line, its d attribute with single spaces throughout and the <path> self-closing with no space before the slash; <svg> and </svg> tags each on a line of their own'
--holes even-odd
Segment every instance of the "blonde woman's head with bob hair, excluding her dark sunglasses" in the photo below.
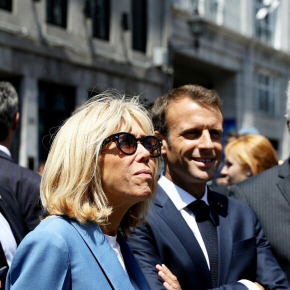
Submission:
<svg viewBox="0 0 290 290">
<path fill-rule="evenodd" d="M 142 144 L 125 155 L 115 142 L 102 142 L 117 132 L 137 138 L 153 134 L 138 97 L 105 91 L 76 109 L 56 133 L 45 162 L 40 197 L 49 215 L 81 223 L 93 221 L 104 233 L 127 236 L 143 222 L 154 197 L 159 158 Z M 152 176 L 149 176 L 149 175 Z"/>
</svg>

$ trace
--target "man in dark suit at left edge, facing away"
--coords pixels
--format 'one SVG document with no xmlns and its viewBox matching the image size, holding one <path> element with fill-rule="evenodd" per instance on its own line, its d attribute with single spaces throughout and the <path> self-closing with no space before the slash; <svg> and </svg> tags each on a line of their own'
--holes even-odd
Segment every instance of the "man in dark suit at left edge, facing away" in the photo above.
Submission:
<svg viewBox="0 0 290 290">
<path fill-rule="evenodd" d="M 18 95 L 6 81 L 0 82 L 0 185 L 8 188 L 17 200 L 26 234 L 40 221 L 40 175 L 15 163 L 10 147 L 19 121 Z"/>
</svg>

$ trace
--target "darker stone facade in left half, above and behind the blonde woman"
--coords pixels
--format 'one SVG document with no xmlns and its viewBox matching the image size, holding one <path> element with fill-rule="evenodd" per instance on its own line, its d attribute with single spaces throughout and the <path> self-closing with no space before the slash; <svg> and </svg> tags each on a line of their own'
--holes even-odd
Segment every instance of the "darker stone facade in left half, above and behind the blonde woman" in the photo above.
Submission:
<svg viewBox="0 0 290 290">
<path fill-rule="evenodd" d="M 167 1 L 148 0 L 146 52 L 131 48 L 130 0 L 111 0 L 109 40 L 92 37 L 91 18 L 83 13 L 84 0 L 68 0 L 67 27 L 46 23 L 46 1 L 12 0 L 11 12 L 0 9 L 0 77 L 19 79 L 21 127 L 13 156 L 35 170 L 38 156 L 39 81 L 75 87 L 75 105 L 87 90 L 115 88 L 141 94 L 152 103 L 161 95 L 167 75 L 152 63 L 153 48 L 165 43 Z M 166 8 L 167 7 L 167 8 Z M 121 15 L 128 15 L 128 30 Z M 165 28 L 164 28 L 165 27 Z M 17 139 L 17 138 L 16 138 Z M 19 150 L 19 155 L 16 150 Z"/>
</svg>

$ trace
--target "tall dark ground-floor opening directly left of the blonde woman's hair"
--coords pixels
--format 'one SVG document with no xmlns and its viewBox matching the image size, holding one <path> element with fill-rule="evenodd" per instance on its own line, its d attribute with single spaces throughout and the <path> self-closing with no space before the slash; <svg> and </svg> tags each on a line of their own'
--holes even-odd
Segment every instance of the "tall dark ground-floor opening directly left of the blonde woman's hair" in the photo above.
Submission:
<svg viewBox="0 0 290 290">
<path fill-rule="evenodd" d="M 75 107 L 75 88 L 40 81 L 38 91 L 38 161 L 45 161 L 52 134 Z"/>
</svg>

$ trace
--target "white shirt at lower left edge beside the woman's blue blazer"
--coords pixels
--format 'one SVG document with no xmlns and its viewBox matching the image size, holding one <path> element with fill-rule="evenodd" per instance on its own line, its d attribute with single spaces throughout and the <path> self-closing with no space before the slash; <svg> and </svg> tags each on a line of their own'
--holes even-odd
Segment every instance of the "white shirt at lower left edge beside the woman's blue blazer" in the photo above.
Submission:
<svg viewBox="0 0 290 290">
<path fill-rule="evenodd" d="M 8 266 L 11 265 L 12 257 L 17 248 L 15 238 L 13 236 L 11 227 L 6 218 L 0 212 L 0 242 L 6 257 Z"/>
</svg>

